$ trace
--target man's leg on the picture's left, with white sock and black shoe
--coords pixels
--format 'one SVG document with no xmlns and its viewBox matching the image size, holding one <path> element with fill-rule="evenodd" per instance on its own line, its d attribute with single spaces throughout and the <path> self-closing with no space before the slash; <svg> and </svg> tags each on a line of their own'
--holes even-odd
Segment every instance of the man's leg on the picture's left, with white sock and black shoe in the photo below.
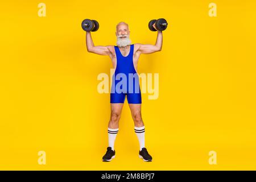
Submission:
<svg viewBox="0 0 256 182">
<path fill-rule="evenodd" d="M 108 162 L 115 157 L 114 142 L 118 133 L 118 122 L 121 117 L 123 104 L 111 103 L 110 107 L 111 107 L 111 114 L 110 114 L 110 120 L 108 124 L 109 147 L 107 148 L 106 154 L 102 158 L 104 162 Z"/>
</svg>

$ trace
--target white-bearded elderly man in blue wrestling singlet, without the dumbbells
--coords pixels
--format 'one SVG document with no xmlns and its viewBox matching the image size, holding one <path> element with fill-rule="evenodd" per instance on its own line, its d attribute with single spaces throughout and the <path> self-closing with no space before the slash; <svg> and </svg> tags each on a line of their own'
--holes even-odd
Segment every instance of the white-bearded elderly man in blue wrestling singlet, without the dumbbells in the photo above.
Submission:
<svg viewBox="0 0 256 182">
<path fill-rule="evenodd" d="M 153 25 L 154 28 L 155 24 Z M 139 140 L 139 158 L 146 162 L 151 162 L 152 157 L 148 154 L 145 147 L 145 128 L 141 115 L 141 90 L 139 88 L 139 78 L 137 75 L 137 65 L 139 56 L 142 53 L 154 53 L 161 51 L 163 35 L 162 31 L 158 31 L 155 45 L 151 44 L 131 44 L 129 26 L 125 22 L 119 22 L 116 27 L 115 35 L 117 36 L 117 46 L 94 46 L 90 32 L 86 32 L 86 46 L 88 52 L 98 55 L 108 55 L 112 60 L 115 69 L 112 79 L 112 92 L 110 93 L 111 114 L 108 123 L 108 139 L 109 146 L 102 161 L 109 162 L 115 157 L 114 142 L 118 133 L 118 122 L 121 117 L 123 103 L 127 96 L 127 101 L 131 110 L 131 116 L 134 121 L 134 131 Z M 125 85 L 120 86 L 118 90 L 118 75 L 126 76 Z M 130 74 L 133 75 L 130 79 Z M 119 78 L 119 80 L 121 80 Z M 124 81 L 122 80 L 122 81 Z M 120 92 L 121 91 L 121 92 Z"/>
</svg>

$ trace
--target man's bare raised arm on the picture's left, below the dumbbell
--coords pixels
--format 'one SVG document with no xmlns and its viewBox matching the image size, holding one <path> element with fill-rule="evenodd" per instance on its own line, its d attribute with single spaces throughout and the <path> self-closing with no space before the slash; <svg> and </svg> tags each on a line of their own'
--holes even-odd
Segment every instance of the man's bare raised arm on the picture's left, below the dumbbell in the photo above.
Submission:
<svg viewBox="0 0 256 182">
<path fill-rule="evenodd" d="M 97 53 L 98 55 L 109 55 L 109 46 L 94 46 L 90 32 L 86 32 L 86 47 L 88 52 Z"/>
</svg>

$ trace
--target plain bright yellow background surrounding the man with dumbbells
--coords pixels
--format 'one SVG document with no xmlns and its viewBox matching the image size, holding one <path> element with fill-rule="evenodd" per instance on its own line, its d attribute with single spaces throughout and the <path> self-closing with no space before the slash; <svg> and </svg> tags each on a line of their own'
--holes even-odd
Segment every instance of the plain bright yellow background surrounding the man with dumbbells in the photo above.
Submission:
<svg viewBox="0 0 256 182">
<path fill-rule="evenodd" d="M 46 3 L 46 17 L 38 4 Z M 210 2 L 217 17 L 208 16 Z M 0 169 L 256 169 L 255 1 L 1 2 Z M 115 44 L 115 25 L 129 23 L 133 43 L 154 44 L 151 19 L 166 18 L 161 52 L 142 55 L 139 73 L 159 73 L 159 98 L 142 95 L 146 147 L 138 158 L 127 101 L 108 145 L 109 94 L 99 94 L 108 56 L 86 52 L 81 21 L 100 23 L 95 45 Z M 209 165 L 208 152 L 217 152 Z M 38 164 L 46 151 L 46 165 Z"/>
</svg>

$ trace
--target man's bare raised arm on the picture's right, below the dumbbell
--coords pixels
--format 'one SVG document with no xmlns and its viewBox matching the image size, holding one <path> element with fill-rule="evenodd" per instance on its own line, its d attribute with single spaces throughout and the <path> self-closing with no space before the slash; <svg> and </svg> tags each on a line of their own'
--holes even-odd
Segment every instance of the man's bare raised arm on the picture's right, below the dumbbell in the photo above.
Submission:
<svg viewBox="0 0 256 182">
<path fill-rule="evenodd" d="M 154 53 L 157 51 L 161 51 L 163 44 L 163 34 L 162 31 L 158 31 L 158 36 L 156 38 L 155 45 L 151 44 L 137 44 L 138 51 L 141 53 Z"/>
</svg>

